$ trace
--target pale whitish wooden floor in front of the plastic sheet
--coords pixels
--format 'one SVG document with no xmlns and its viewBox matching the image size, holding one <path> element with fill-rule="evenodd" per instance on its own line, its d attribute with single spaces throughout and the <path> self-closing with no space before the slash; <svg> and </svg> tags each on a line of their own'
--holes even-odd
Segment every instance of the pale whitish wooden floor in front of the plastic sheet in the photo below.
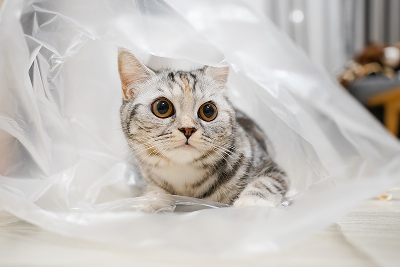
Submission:
<svg viewBox="0 0 400 267">
<path fill-rule="evenodd" d="M 134 251 L 42 230 L 0 211 L 0 266 L 400 266 L 400 199 L 368 200 L 277 253 L 214 258 Z"/>
</svg>

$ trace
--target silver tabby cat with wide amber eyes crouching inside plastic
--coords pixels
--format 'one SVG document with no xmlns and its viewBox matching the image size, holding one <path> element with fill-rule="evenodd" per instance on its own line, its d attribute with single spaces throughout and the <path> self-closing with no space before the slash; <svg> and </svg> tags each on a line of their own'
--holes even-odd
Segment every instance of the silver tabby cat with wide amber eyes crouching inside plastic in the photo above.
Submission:
<svg viewBox="0 0 400 267">
<path fill-rule="evenodd" d="M 118 53 L 123 133 L 147 194 L 276 206 L 287 190 L 260 128 L 227 98 L 228 68 L 154 71 Z"/>
</svg>

